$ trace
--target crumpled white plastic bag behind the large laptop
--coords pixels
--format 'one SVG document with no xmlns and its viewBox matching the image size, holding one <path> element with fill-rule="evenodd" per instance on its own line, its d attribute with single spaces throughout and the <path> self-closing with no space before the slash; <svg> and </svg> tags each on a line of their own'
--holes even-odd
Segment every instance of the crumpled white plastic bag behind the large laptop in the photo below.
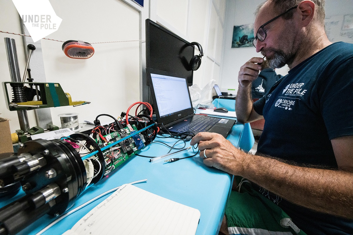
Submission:
<svg viewBox="0 0 353 235">
<path fill-rule="evenodd" d="M 196 107 L 198 104 L 201 104 L 204 106 L 212 105 L 211 91 L 215 83 L 216 83 L 216 80 L 212 79 L 202 89 L 197 84 L 193 84 L 192 86 L 189 87 L 190 97 L 191 97 L 191 102 L 193 107 Z"/>
</svg>

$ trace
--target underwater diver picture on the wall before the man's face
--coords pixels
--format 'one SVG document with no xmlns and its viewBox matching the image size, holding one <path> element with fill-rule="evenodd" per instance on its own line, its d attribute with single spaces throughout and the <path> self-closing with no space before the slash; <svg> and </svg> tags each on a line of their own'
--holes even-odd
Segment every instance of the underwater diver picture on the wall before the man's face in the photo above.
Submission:
<svg viewBox="0 0 353 235">
<path fill-rule="evenodd" d="M 254 25 L 244 24 L 233 27 L 232 48 L 253 47 Z"/>
</svg>

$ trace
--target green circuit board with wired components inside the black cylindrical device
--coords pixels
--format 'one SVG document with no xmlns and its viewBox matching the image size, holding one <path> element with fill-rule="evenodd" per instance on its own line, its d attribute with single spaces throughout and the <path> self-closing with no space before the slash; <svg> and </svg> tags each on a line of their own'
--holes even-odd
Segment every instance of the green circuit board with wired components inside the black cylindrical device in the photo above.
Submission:
<svg viewBox="0 0 353 235">
<path fill-rule="evenodd" d="M 130 130 L 125 127 L 118 131 L 114 131 L 109 133 L 108 135 L 104 135 L 103 137 L 106 141 L 102 140 L 102 138 L 97 137 L 96 143 L 100 148 L 108 146 L 116 141 L 119 141 L 134 132 L 137 132 L 136 125 L 131 125 L 134 131 L 130 132 Z M 115 145 L 109 147 L 106 150 L 103 150 L 103 156 L 106 163 L 105 166 L 105 174 L 107 175 L 112 172 L 116 167 L 124 163 L 131 156 L 136 154 L 140 149 L 145 147 L 145 140 L 143 135 L 136 134 L 132 137 L 126 138 L 125 140 L 116 143 Z"/>
</svg>

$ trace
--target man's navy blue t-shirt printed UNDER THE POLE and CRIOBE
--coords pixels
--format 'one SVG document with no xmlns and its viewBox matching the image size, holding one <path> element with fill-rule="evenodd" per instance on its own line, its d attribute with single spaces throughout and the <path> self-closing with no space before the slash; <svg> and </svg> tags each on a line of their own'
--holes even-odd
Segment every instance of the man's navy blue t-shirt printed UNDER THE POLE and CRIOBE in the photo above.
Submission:
<svg viewBox="0 0 353 235">
<path fill-rule="evenodd" d="M 307 58 L 253 107 L 265 119 L 258 153 L 337 168 L 330 140 L 353 135 L 353 44 L 333 43 Z M 307 234 L 353 234 L 353 221 L 284 199 L 279 206 Z"/>
</svg>

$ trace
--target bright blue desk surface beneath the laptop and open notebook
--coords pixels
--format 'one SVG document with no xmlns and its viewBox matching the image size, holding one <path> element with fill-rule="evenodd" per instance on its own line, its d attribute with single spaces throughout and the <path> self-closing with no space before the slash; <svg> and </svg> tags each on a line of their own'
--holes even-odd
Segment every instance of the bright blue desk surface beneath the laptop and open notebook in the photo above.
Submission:
<svg viewBox="0 0 353 235">
<path fill-rule="evenodd" d="M 240 147 L 242 147 L 241 144 L 246 142 L 246 146 L 252 145 L 251 140 L 253 136 L 251 132 L 249 133 L 246 128 L 244 128 L 244 124 L 236 124 L 233 126 L 231 134 L 229 134 L 227 139 L 235 146 L 239 146 L 240 144 Z M 170 142 L 172 144 L 175 141 L 171 138 L 156 138 L 156 140 Z M 182 146 L 183 144 L 178 145 L 178 147 Z M 189 144 L 187 144 L 186 147 L 188 146 Z M 155 143 L 144 148 L 140 154 L 160 156 L 166 154 L 168 151 L 168 147 Z M 173 157 L 184 157 L 192 154 L 193 151 L 190 149 L 175 154 Z M 151 163 L 148 158 L 133 156 L 126 163 L 122 164 L 119 169 L 116 169 L 113 173 L 83 192 L 77 198 L 73 208 L 114 187 L 136 180 L 147 179 L 148 181 L 146 183 L 135 184 L 135 186 L 198 209 L 201 212 L 201 218 L 196 234 L 216 234 L 223 218 L 233 176 L 219 171 L 218 169 L 205 166 L 198 155 L 173 163 L 164 163 L 164 160 Z M 0 202 L 0 207 L 23 196 L 23 194 L 22 192 L 22 194 L 19 193 L 14 198 L 8 200 L 3 199 L 2 202 Z M 43 234 L 59 235 L 64 233 L 109 195 L 110 194 L 96 200 L 85 208 L 66 217 Z M 119 216 L 117 216 L 117 219 L 119 219 Z M 49 215 L 44 215 L 29 227 L 22 230 L 20 234 L 36 234 L 52 221 L 54 221 L 54 218 Z"/>
</svg>

